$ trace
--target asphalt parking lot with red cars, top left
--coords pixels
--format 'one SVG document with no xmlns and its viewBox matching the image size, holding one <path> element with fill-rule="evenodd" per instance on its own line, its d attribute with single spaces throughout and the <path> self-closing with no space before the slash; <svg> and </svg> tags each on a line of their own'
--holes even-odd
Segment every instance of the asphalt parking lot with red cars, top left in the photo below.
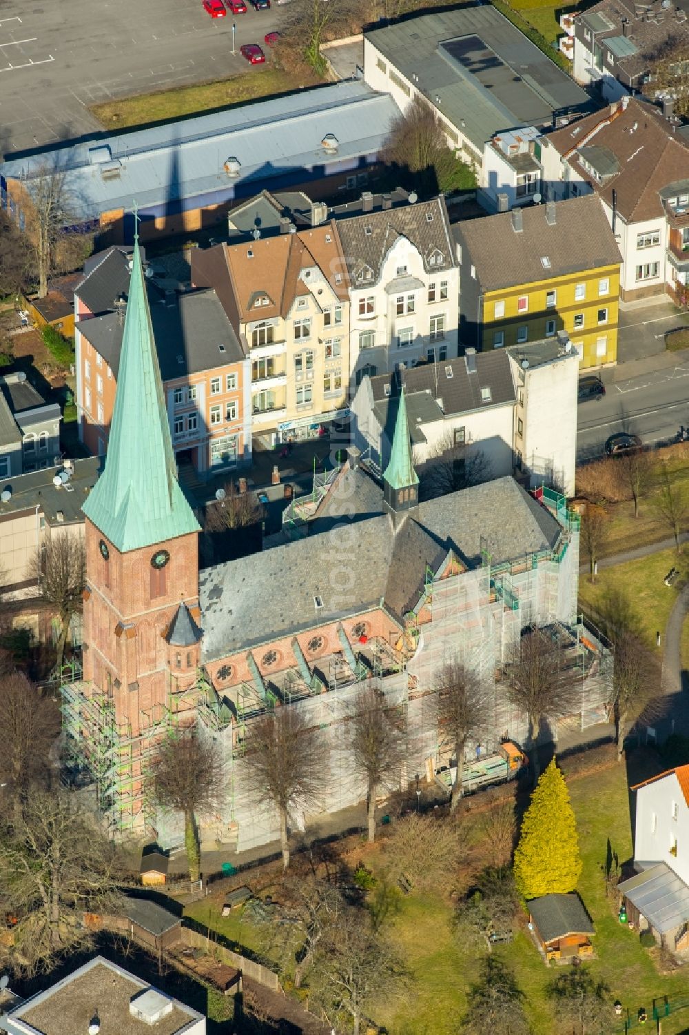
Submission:
<svg viewBox="0 0 689 1035">
<path fill-rule="evenodd" d="M 0 154 L 97 131 L 89 105 L 245 71 L 239 47 L 263 43 L 283 12 L 211 19 L 202 0 L 0 0 Z"/>
</svg>

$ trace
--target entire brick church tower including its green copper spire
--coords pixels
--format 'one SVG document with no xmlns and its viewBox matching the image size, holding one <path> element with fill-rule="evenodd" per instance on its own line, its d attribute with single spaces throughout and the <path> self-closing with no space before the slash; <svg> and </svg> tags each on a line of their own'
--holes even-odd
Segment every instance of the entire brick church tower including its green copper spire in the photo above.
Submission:
<svg viewBox="0 0 689 1035">
<path fill-rule="evenodd" d="M 88 709 L 82 704 L 76 732 L 107 742 L 107 715 L 111 739 L 128 744 L 110 761 L 125 761 L 128 781 L 136 785 L 145 755 L 163 734 L 166 716 L 179 712 L 180 697 L 196 681 L 202 637 L 200 528 L 177 480 L 138 239 L 108 453 L 84 513 L 80 694 L 100 711 L 97 722 L 85 726 Z M 97 746 L 85 744 L 91 760 Z M 127 810 L 133 814 L 141 807 L 140 793 L 141 787 L 129 795 Z M 110 791 L 111 801 L 114 796 Z"/>
</svg>

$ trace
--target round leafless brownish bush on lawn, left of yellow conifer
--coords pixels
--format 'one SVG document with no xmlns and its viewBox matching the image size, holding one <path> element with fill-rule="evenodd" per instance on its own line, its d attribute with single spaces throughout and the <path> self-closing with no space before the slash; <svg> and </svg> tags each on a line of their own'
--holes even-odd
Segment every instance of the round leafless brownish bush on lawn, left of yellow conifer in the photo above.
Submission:
<svg viewBox="0 0 689 1035">
<path fill-rule="evenodd" d="M 390 830 L 383 842 L 390 881 L 402 878 L 422 890 L 450 880 L 461 860 L 461 825 L 452 818 L 410 812 Z"/>
</svg>

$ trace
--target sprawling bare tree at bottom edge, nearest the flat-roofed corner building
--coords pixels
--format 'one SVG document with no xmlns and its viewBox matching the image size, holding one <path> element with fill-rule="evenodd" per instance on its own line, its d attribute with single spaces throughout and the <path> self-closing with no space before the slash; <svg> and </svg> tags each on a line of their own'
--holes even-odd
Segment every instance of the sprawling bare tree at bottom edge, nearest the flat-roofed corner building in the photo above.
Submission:
<svg viewBox="0 0 689 1035">
<path fill-rule="evenodd" d="M 399 972 L 390 944 L 373 930 L 364 912 L 351 909 L 337 918 L 317 953 L 314 990 L 359 1035 L 366 1010 L 383 989 L 391 992 Z"/>
</svg>

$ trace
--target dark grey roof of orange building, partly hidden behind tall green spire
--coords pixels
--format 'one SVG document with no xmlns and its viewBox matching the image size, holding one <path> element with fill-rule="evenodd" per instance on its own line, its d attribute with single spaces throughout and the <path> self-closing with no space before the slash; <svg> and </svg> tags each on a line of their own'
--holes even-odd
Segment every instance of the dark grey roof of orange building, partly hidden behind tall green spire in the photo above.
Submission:
<svg viewBox="0 0 689 1035">
<path fill-rule="evenodd" d="M 155 297 L 155 296 L 154 296 Z M 153 335 L 163 381 L 240 362 L 244 353 L 212 288 L 152 300 Z M 117 378 L 124 322 L 107 313 L 79 324 L 80 332 Z M 220 352 L 222 346 L 222 352 Z"/>
</svg>

